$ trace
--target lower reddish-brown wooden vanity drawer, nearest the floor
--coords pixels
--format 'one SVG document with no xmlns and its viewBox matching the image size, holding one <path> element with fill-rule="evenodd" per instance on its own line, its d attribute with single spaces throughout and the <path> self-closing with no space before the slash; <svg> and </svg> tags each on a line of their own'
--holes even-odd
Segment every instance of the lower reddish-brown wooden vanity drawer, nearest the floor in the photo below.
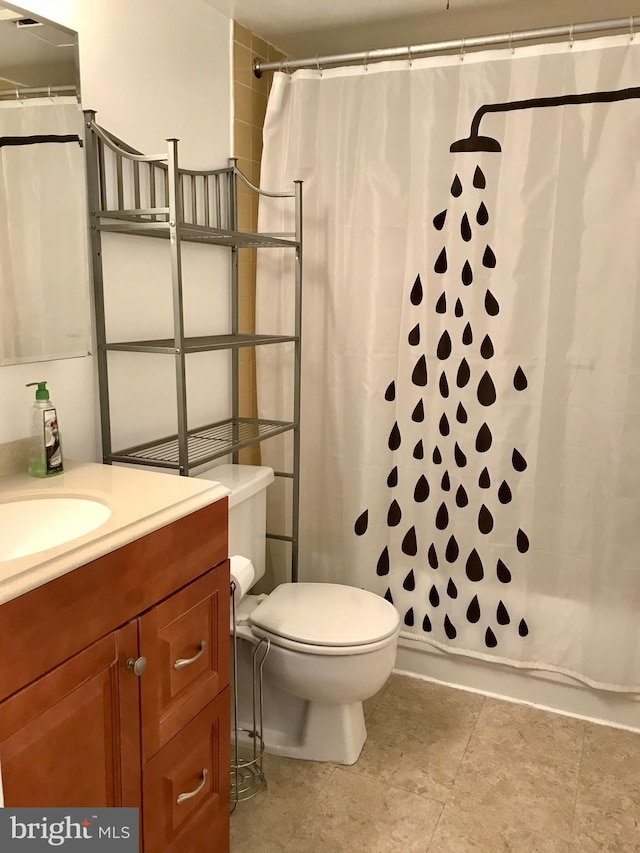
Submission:
<svg viewBox="0 0 640 853">
<path fill-rule="evenodd" d="M 144 767 L 145 853 L 228 850 L 229 693 L 226 688 Z"/>
</svg>

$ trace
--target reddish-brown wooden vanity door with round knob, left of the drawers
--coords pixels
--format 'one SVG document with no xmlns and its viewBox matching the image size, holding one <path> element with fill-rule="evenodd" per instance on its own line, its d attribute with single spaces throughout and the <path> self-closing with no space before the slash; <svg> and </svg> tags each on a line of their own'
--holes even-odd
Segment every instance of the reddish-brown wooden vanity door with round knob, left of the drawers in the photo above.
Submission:
<svg viewBox="0 0 640 853">
<path fill-rule="evenodd" d="M 7 806 L 140 806 L 135 622 L 0 703 Z"/>
</svg>

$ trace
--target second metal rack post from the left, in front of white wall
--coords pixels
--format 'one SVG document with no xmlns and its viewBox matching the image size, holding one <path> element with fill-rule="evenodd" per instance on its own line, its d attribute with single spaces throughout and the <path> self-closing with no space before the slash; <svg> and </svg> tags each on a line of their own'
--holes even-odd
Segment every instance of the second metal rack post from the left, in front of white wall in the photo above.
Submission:
<svg viewBox="0 0 640 853">
<path fill-rule="evenodd" d="M 189 474 L 189 436 L 187 434 L 187 382 L 184 352 L 184 318 L 182 298 L 182 255 L 179 223 L 182 221 L 178 140 L 167 139 L 167 186 L 169 203 L 169 244 L 171 250 L 171 284 L 173 289 L 173 337 L 176 365 L 176 398 L 178 412 L 178 465 L 180 475 Z"/>
</svg>

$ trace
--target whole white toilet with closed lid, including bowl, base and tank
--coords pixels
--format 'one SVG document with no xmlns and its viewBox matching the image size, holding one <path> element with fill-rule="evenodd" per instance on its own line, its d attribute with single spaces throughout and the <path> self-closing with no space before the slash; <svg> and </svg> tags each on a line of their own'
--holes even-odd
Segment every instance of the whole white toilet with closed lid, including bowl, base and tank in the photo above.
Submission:
<svg viewBox="0 0 640 853">
<path fill-rule="evenodd" d="M 273 469 L 221 465 L 205 475 L 229 495 L 229 554 L 265 571 L 266 488 Z M 252 653 L 266 637 L 267 752 L 354 764 L 367 737 L 362 703 L 391 674 L 400 631 L 395 607 L 374 593 L 330 583 L 283 583 L 236 603 L 239 720 L 251 719 Z"/>
</svg>

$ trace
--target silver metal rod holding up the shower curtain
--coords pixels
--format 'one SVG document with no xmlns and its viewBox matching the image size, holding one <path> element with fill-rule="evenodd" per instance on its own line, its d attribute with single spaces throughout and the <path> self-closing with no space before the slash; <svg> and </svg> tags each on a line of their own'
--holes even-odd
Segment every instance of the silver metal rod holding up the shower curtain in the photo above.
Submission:
<svg viewBox="0 0 640 853">
<path fill-rule="evenodd" d="M 640 17 L 633 15 L 628 18 L 613 18 L 608 21 L 592 21 L 587 24 L 568 24 L 562 27 L 542 27 L 537 30 L 519 30 L 513 33 L 499 33 L 490 36 L 475 36 L 473 38 L 437 41 L 431 44 L 417 44 L 409 47 L 389 47 L 377 50 L 361 50 L 357 53 L 339 53 L 333 56 L 314 56 L 308 59 L 282 60 L 281 62 L 253 61 L 253 73 L 261 77 L 263 71 L 295 71 L 298 68 L 327 68 L 331 65 L 349 63 L 379 62 L 383 59 L 413 59 L 430 53 L 444 53 L 447 50 L 465 51 L 474 47 L 494 47 L 496 45 L 513 45 L 522 41 L 540 41 L 552 38 L 569 38 L 587 33 L 601 33 L 609 30 L 628 30 L 631 37 L 635 28 L 640 26 Z"/>
</svg>

